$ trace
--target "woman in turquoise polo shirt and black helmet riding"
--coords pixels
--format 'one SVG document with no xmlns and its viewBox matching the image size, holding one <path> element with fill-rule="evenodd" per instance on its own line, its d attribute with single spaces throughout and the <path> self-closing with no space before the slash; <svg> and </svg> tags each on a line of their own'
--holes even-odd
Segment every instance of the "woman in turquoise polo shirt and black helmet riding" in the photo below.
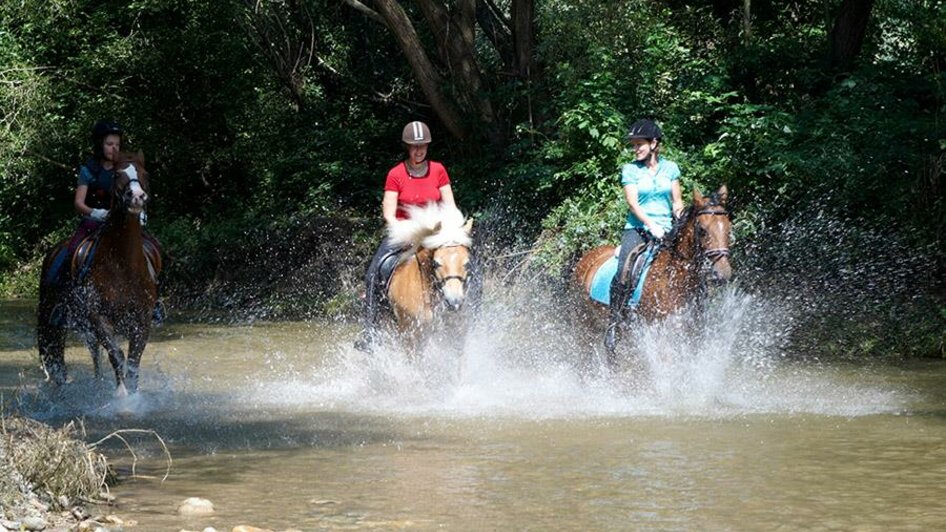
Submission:
<svg viewBox="0 0 946 532">
<path fill-rule="evenodd" d="M 621 167 L 621 186 L 627 201 L 627 221 L 621 235 L 618 271 L 611 281 L 608 328 L 604 344 L 609 351 L 617 343 L 627 300 L 634 287 L 630 282 L 633 264 L 631 253 L 641 243 L 660 240 L 673 227 L 673 218 L 683 212 L 680 189 L 680 168 L 660 155 L 663 133 L 652 120 L 631 124 L 627 140 L 634 152 L 634 161 Z"/>
</svg>

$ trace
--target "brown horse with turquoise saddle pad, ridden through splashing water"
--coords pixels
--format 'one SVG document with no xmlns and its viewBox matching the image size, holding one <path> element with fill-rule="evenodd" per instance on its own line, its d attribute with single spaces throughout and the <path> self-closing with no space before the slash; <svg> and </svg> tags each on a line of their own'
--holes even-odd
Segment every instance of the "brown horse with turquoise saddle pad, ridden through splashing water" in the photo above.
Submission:
<svg viewBox="0 0 946 532">
<path fill-rule="evenodd" d="M 703 268 L 707 261 L 711 265 L 709 280 L 729 281 L 732 267 L 729 264 L 728 195 L 725 185 L 709 197 L 704 197 L 699 190 L 693 191 L 693 205 L 680 217 L 654 255 L 639 292 L 634 309 L 636 316 L 652 321 L 690 301 L 700 300 L 707 287 Z M 574 280 L 585 294 L 591 294 L 595 274 L 612 259 L 614 249 L 614 246 L 597 247 L 578 261 Z M 612 367 L 616 363 L 613 351 L 608 353 L 608 363 Z"/>
</svg>

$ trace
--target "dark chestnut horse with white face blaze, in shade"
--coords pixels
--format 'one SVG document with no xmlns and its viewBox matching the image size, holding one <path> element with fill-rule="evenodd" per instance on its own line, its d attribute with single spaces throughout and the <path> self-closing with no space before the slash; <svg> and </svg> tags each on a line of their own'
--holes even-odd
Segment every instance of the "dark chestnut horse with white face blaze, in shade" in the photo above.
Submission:
<svg viewBox="0 0 946 532">
<path fill-rule="evenodd" d="M 66 327 L 52 320 L 58 304 L 68 308 L 72 325 L 83 334 L 92 353 L 96 377 L 99 347 L 108 351 L 115 370 L 117 394 L 138 388 L 138 365 L 151 332 L 152 309 L 157 299 L 155 279 L 161 269 L 160 253 L 141 228 L 141 213 L 148 202 L 148 173 L 144 156 L 122 153 L 115 164 L 112 206 L 102 227 L 79 245 L 72 261 L 72 282 L 46 279 L 53 260 L 68 245 L 60 242 L 43 261 L 37 339 L 46 374 L 56 384 L 66 382 L 64 347 Z M 148 256 L 146 256 L 146 252 Z M 61 275 L 69 275 L 69 265 Z M 64 289 L 64 285 L 68 289 Z M 128 339 L 128 358 L 117 335 Z"/>
</svg>

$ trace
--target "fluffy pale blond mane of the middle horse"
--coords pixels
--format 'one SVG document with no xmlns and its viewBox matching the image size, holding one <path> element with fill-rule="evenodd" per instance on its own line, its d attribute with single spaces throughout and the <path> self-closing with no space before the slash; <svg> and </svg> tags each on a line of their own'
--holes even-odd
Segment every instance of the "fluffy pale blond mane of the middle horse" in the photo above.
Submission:
<svg viewBox="0 0 946 532">
<path fill-rule="evenodd" d="M 424 207 L 408 206 L 406 220 L 388 226 L 388 239 L 397 246 L 409 247 L 405 255 L 418 249 L 437 249 L 444 246 L 466 246 L 472 244 L 466 219 L 458 209 L 439 203 L 428 203 Z"/>
</svg>

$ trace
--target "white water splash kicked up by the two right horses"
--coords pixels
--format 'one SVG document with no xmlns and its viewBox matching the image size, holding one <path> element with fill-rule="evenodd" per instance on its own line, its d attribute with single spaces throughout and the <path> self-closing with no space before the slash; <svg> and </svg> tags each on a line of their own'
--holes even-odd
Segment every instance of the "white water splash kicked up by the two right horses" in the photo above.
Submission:
<svg viewBox="0 0 946 532">
<path fill-rule="evenodd" d="M 533 419 L 858 416 L 899 411 L 907 399 L 844 382 L 841 370 L 786 361 L 790 313 L 738 286 L 713 298 L 702 325 L 682 314 L 636 327 L 613 373 L 600 363 L 588 371 L 600 335 L 582 334 L 554 298 L 536 304 L 531 293 L 487 298 L 464 334 L 432 340 L 416 361 L 390 344 L 372 355 L 338 344 L 330 363 L 275 394 L 261 384 L 257 397 L 383 415 Z"/>
</svg>

